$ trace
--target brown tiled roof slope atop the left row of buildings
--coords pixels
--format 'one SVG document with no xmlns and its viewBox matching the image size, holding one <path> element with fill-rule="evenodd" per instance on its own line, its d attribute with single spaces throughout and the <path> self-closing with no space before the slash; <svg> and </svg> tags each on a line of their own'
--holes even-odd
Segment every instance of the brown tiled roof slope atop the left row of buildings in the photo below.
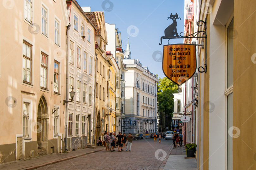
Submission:
<svg viewBox="0 0 256 170">
<path fill-rule="evenodd" d="M 105 22 L 103 20 L 104 12 L 102 12 L 102 11 L 85 12 L 85 14 L 92 21 L 92 23 L 95 25 L 95 27 L 97 28 L 95 34 L 96 35 L 101 35 L 102 24 L 103 24 L 103 22 Z"/>
</svg>

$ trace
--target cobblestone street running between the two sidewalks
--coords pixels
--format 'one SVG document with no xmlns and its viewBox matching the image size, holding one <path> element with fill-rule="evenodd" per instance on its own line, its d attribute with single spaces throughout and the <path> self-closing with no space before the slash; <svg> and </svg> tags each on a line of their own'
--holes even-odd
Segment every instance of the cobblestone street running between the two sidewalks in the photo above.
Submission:
<svg viewBox="0 0 256 170">
<path fill-rule="evenodd" d="M 39 169 L 158 169 L 171 149 L 172 140 L 132 142 L 131 152 L 100 151 Z M 157 159 L 158 158 L 158 159 Z"/>
</svg>

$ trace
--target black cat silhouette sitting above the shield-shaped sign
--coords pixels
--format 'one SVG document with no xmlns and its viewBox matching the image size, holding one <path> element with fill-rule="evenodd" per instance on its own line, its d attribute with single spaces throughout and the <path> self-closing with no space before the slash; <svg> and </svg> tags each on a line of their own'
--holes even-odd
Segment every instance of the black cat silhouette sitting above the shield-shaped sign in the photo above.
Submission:
<svg viewBox="0 0 256 170">
<path fill-rule="evenodd" d="M 173 15 L 171 13 L 170 17 L 167 19 L 172 19 L 173 23 L 171 25 L 169 25 L 165 30 L 164 30 L 164 36 L 165 37 L 180 37 L 178 35 L 177 32 L 177 19 L 180 19 L 180 17 L 178 16 L 178 14 L 176 13 L 175 15 Z M 180 19 L 181 20 L 181 19 Z"/>
</svg>

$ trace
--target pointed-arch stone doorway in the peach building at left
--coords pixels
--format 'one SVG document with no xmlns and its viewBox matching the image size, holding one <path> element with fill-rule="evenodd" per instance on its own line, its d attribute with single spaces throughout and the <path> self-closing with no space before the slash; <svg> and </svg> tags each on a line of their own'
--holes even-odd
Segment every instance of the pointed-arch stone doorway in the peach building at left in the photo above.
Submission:
<svg viewBox="0 0 256 170">
<path fill-rule="evenodd" d="M 37 110 L 37 153 L 47 154 L 48 152 L 48 122 L 49 115 L 47 103 L 44 96 L 39 100 Z"/>
</svg>

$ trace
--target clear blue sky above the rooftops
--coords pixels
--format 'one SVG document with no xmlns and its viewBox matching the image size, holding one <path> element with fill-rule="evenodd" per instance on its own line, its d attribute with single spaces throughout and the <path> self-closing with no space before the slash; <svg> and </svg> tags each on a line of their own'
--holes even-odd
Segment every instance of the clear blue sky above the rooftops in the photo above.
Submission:
<svg viewBox="0 0 256 170">
<path fill-rule="evenodd" d="M 172 20 L 167 20 L 170 14 L 177 13 L 178 33 L 184 30 L 184 0 L 77 0 L 81 7 L 91 7 L 91 11 L 104 11 L 105 22 L 116 24 L 122 36 L 123 49 L 130 41 L 131 58 L 139 59 L 149 71 L 165 77 L 162 71 L 163 45 L 160 43 L 164 30 Z M 131 26 L 134 25 L 134 26 Z M 171 39 L 172 43 L 183 43 L 183 39 Z M 157 51 L 160 51 L 158 53 Z M 155 52 L 155 53 L 154 53 Z M 157 54 L 158 53 L 158 54 Z"/>
</svg>

